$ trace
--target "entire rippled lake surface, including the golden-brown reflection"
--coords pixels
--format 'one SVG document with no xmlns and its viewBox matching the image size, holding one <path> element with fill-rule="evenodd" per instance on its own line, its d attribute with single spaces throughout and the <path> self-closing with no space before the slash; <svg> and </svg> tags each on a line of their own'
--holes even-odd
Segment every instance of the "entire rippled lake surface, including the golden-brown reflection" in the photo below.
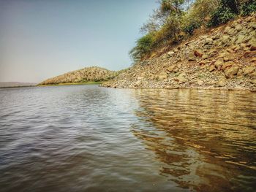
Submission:
<svg viewBox="0 0 256 192">
<path fill-rule="evenodd" d="M 0 90 L 0 191 L 254 191 L 256 94 Z"/>
</svg>

